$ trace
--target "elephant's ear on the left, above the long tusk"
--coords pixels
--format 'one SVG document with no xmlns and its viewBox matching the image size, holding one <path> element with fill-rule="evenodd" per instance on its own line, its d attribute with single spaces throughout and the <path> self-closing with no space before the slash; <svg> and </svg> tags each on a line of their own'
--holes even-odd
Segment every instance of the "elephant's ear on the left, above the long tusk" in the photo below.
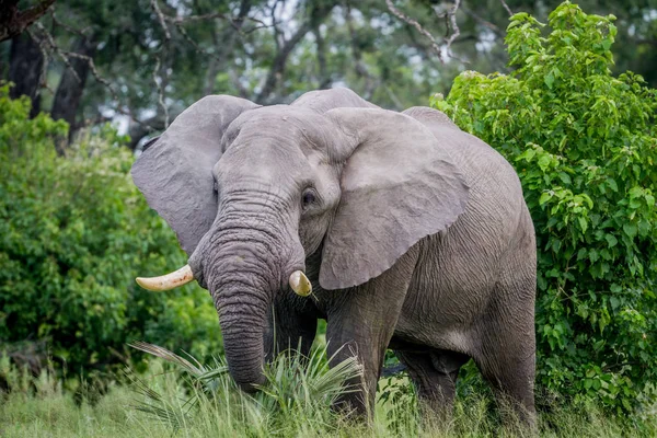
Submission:
<svg viewBox="0 0 657 438">
<path fill-rule="evenodd" d="M 151 208 L 192 255 L 217 215 L 212 168 L 223 132 L 240 114 L 258 107 L 244 99 L 210 95 L 185 110 L 132 165 L 132 180 Z"/>
</svg>

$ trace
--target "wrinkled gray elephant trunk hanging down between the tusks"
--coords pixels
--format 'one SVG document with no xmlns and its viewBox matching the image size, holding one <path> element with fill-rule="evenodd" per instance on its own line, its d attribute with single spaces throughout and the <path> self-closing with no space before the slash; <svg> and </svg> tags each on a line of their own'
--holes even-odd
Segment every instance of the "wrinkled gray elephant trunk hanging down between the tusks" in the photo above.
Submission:
<svg viewBox="0 0 657 438">
<path fill-rule="evenodd" d="M 219 314 L 229 371 L 240 388 L 253 392 L 265 381 L 265 328 L 274 293 L 289 276 L 289 238 L 270 226 L 272 218 L 226 216 L 205 242 L 203 270 Z"/>
</svg>

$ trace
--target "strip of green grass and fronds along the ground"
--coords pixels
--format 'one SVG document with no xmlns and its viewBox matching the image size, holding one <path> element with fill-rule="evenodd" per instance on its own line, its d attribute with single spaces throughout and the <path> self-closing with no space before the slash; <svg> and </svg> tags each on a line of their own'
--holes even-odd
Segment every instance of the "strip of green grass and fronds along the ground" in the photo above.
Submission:
<svg viewBox="0 0 657 438">
<path fill-rule="evenodd" d="M 97 403 L 77 404 L 48 372 L 11 374 L 10 393 L 0 394 L 0 437 L 511 437 L 496 403 L 483 391 L 457 400 L 453 415 L 438 420 L 423 411 L 405 377 L 382 379 L 376 419 L 367 425 L 330 406 L 345 382 L 360 372 L 355 361 L 328 369 L 325 349 L 309 358 L 281 354 L 267 366 L 262 391 L 239 391 L 226 364 L 201 365 L 192 357 L 136 345 L 155 356 L 148 374 L 128 372 L 111 383 Z M 172 364 L 174 367 L 172 367 Z M 2 360 L 0 360 L 0 368 Z M 7 371 L 7 368 L 2 368 Z M 127 384 L 126 384 L 127 383 Z M 596 406 L 541 396 L 538 429 L 545 437 L 650 437 L 657 420 L 615 417 Z"/>
</svg>

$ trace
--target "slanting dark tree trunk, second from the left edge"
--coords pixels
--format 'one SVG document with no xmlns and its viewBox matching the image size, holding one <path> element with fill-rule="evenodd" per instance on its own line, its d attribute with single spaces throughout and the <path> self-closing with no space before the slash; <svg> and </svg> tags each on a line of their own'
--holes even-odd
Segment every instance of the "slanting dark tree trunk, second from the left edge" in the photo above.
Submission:
<svg viewBox="0 0 657 438">
<path fill-rule="evenodd" d="M 79 38 L 73 45 L 72 51 L 79 55 L 93 57 L 96 50 L 96 44 L 93 39 L 93 37 Z M 55 93 L 55 102 L 53 103 L 50 114 L 53 118 L 65 119 L 69 124 L 70 142 L 76 130 L 80 128 L 76 123 L 76 116 L 80 107 L 82 92 L 84 91 L 84 84 L 91 68 L 85 59 L 71 57 L 69 61 L 72 70 L 76 71 L 77 77 L 71 69 L 67 68 L 64 71 L 64 74 L 61 74 L 61 79 L 59 80 L 59 85 L 57 87 L 57 92 Z"/>
</svg>

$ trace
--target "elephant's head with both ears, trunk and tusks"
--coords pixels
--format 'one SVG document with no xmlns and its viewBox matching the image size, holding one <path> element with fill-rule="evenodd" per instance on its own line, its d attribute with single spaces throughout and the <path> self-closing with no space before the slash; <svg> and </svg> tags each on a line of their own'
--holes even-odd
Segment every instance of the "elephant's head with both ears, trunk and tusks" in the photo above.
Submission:
<svg viewBox="0 0 657 438">
<path fill-rule="evenodd" d="M 263 382 L 263 332 L 276 293 L 309 292 L 307 257 L 321 251 L 330 293 L 390 268 L 449 227 L 468 186 L 436 137 L 414 118 L 349 90 L 291 105 L 208 96 L 181 114 L 132 168 L 136 184 L 175 230 L 192 278 L 215 301 L 230 372 Z"/>
</svg>

